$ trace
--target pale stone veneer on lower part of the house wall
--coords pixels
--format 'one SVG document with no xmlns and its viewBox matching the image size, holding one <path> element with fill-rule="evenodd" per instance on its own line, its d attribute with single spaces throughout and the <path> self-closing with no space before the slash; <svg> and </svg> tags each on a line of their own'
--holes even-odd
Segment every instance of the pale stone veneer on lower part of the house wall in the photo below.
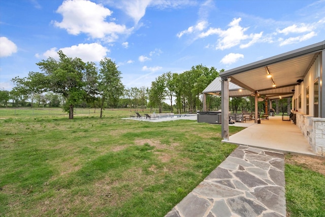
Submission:
<svg viewBox="0 0 325 217">
<path fill-rule="evenodd" d="M 325 155 L 325 118 L 296 112 L 297 126 L 316 154 Z"/>
</svg>

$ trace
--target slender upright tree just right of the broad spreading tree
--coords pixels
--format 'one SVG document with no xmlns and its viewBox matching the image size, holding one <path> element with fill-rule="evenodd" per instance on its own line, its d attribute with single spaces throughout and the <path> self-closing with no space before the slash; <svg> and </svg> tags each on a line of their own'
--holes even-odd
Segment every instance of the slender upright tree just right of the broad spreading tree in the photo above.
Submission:
<svg viewBox="0 0 325 217">
<path fill-rule="evenodd" d="M 116 64 L 110 58 L 105 57 L 101 60 L 100 66 L 98 90 L 101 97 L 100 117 L 102 118 L 105 100 L 115 105 L 123 95 L 124 86 L 121 82 L 121 72 L 117 70 Z"/>
</svg>

